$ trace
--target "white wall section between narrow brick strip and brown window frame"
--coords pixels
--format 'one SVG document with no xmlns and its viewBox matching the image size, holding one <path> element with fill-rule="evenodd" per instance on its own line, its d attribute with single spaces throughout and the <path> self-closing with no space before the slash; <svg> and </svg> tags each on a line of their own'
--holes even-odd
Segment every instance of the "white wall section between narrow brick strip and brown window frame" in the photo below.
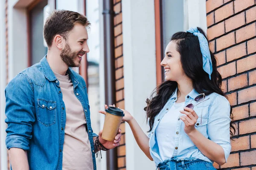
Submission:
<svg viewBox="0 0 256 170">
<path fill-rule="evenodd" d="M 125 109 L 146 132 L 145 99 L 156 86 L 153 0 L 122 0 Z M 155 170 L 125 125 L 126 170 Z"/>
</svg>

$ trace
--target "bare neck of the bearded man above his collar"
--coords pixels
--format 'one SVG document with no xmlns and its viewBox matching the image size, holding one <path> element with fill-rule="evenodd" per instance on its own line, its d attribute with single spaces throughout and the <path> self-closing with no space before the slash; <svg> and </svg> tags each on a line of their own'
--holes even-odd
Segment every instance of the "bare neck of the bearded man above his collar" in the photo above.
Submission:
<svg viewBox="0 0 256 170">
<path fill-rule="evenodd" d="M 65 62 L 62 61 L 58 53 L 48 50 L 46 59 L 53 72 L 66 75 L 68 66 Z"/>
</svg>

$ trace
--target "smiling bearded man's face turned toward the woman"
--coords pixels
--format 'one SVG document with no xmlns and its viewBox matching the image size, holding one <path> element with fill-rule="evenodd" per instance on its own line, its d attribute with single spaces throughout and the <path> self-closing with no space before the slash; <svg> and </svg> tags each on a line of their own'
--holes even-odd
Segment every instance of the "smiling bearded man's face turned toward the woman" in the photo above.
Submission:
<svg viewBox="0 0 256 170">
<path fill-rule="evenodd" d="M 81 24 L 76 24 L 67 36 L 65 47 L 61 50 L 60 57 L 68 67 L 79 67 L 82 57 L 88 53 L 87 29 Z"/>
</svg>

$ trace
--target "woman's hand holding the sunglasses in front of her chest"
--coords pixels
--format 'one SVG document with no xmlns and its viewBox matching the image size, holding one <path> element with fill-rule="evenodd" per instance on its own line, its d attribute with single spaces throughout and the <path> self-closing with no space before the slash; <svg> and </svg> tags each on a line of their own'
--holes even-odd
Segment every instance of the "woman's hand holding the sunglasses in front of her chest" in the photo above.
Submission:
<svg viewBox="0 0 256 170">
<path fill-rule="evenodd" d="M 186 134 L 189 134 L 195 131 L 195 124 L 198 119 L 198 115 L 191 108 L 184 108 L 184 111 L 180 111 L 180 113 L 185 114 L 184 116 L 180 116 L 180 119 L 185 123 L 184 131 Z"/>
</svg>

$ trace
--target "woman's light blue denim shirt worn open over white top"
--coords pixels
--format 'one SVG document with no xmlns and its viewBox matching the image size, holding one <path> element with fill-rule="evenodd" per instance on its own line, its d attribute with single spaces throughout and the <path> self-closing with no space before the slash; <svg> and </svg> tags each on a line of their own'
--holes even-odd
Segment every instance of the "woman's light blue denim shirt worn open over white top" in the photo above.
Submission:
<svg viewBox="0 0 256 170">
<path fill-rule="evenodd" d="M 185 106 L 192 102 L 194 105 L 197 103 L 192 101 L 198 93 L 193 89 L 185 99 Z M 198 121 L 195 128 L 201 132 L 207 139 L 221 145 L 225 153 L 225 159 L 230 154 L 230 103 L 228 100 L 219 94 L 212 93 L 206 96 L 204 102 L 196 105 L 194 111 L 198 114 Z M 166 105 L 154 119 L 153 129 L 148 133 L 149 147 L 151 157 L 157 166 L 162 161 L 160 158 L 159 147 L 157 141 L 165 139 L 157 139 L 155 130 L 163 116 L 169 111 L 174 102 L 177 100 L 177 89 L 175 93 L 169 98 Z M 184 114 L 180 113 L 180 116 Z M 180 117 L 179 116 L 179 117 Z M 195 160 L 201 159 L 204 161 L 212 162 L 204 156 L 200 150 L 191 141 L 189 136 L 184 132 L 185 124 L 181 119 L 177 119 L 176 133 L 175 133 L 175 150 L 173 152 L 172 160 Z M 211 147 L 211 146 L 209 146 Z"/>
</svg>

